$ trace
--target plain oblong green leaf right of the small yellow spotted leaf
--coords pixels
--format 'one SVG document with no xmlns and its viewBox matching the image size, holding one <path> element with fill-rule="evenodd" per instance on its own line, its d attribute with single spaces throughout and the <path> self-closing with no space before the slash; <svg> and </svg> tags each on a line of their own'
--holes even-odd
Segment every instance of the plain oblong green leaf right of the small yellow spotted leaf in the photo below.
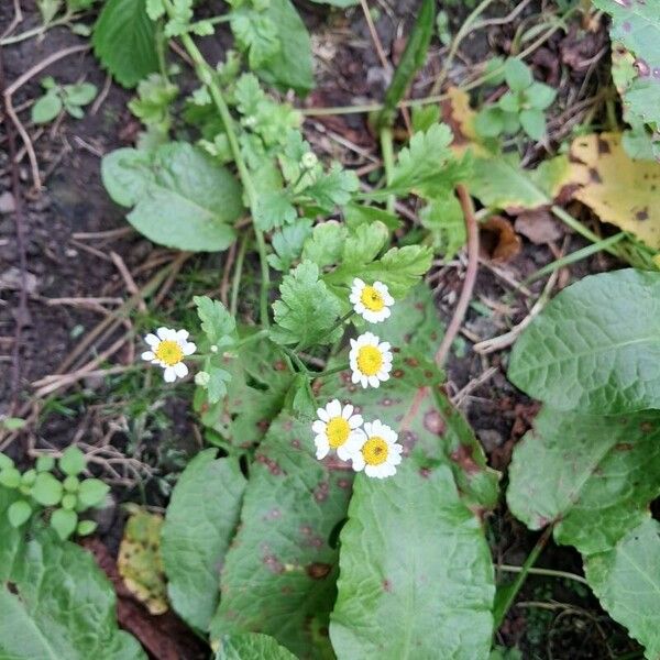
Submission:
<svg viewBox="0 0 660 660">
<path fill-rule="evenodd" d="M 218 607 L 220 566 L 246 483 L 238 460 L 216 454 L 207 449 L 188 463 L 172 494 L 161 537 L 169 601 L 199 630 L 208 630 Z"/>
</svg>

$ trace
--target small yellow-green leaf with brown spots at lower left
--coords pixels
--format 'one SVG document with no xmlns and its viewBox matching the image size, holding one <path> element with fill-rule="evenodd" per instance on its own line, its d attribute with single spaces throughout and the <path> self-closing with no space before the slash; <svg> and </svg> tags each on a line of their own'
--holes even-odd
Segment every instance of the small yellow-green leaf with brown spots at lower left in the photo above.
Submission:
<svg viewBox="0 0 660 660">
<path fill-rule="evenodd" d="M 161 559 L 163 516 L 150 514 L 135 505 L 131 505 L 130 510 L 117 568 L 127 588 L 152 614 L 163 614 L 169 607 Z"/>
</svg>

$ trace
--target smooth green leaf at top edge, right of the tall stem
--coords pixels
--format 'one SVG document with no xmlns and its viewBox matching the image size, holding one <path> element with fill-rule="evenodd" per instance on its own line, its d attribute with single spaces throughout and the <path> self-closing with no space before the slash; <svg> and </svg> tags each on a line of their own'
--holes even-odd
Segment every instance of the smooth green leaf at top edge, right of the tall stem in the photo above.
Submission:
<svg viewBox="0 0 660 660">
<path fill-rule="evenodd" d="M 271 85 L 306 95 L 314 87 L 314 75 L 305 23 L 290 0 L 270 0 L 264 15 L 275 25 L 280 47 L 256 73 Z"/>
</svg>

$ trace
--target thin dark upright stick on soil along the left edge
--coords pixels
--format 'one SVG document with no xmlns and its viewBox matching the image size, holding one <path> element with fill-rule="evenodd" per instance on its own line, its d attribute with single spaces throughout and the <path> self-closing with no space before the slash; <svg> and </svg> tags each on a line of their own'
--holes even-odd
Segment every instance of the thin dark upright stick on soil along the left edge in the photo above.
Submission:
<svg viewBox="0 0 660 660">
<path fill-rule="evenodd" d="M 4 90 L 4 66 L 2 53 L 0 51 L 0 89 Z M 4 94 L 7 113 L 10 114 L 9 96 Z M 14 197 L 14 224 L 16 231 L 16 250 L 19 253 L 19 270 L 21 273 L 21 284 L 19 289 L 19 309 L 15 316 L 14 343 L 12 348 L 12 367 L 11 367 L 11 405 L 10 414 L 19 405 L 19 393 L 21 388 L 21 349 L 23 343 L 23 323 L 28 317 L 28 256 L 25 253 L 25 216 L 23 212 L 23 197 L 21 194 L 21 182 L 19 178 L 19 166 L 15 162 L 16 143 L 10 122 L 7 122 L 7 138 L 9 142 L 9 158 L 11 167 L 11 184 Z"/>
</svg>

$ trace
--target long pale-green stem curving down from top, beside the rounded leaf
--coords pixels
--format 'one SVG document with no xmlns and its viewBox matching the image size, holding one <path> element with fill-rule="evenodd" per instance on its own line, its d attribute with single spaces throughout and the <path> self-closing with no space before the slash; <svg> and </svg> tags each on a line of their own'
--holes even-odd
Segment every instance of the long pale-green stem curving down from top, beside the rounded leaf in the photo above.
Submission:
<svg viewBox="0 0 660 660">
<path fill-rule="evenodd" d="M 172 16 L 174 13 L 174 8 L 172 6 L 172 0 L 164 0 L 165 7 L 167 9 L 168 14 Z M 222 123 L 224 125 L 224 131 L 227 133 L 227 140 L 229 142 L 229 146 L 231 148 L 231 153 L 234 157 L 234 162 L 237 164 L 237 168 L 239 170 L 239 176 L 241 178 L 241 183 L 243 184 L 243 188 L 245 190 L 245 195 L 248 196 L 248 201 L 250 205 L 250 211 L 252 213 L 252 218 L 255 217 L 255 210 L 257 205 L 257 196 L 256 189 L 254 187 L 254 183 L 252 182 L 252 176 L 250 175 L 250 170 L 248 169 L 248 165 L 243 160 L 243 154 L 241 153 L 241 146 L 239 145 L 239 139 L 237 138 L 237 132 L 234 129 L 234 120 L 229 111 L 229 107 L 222 96 L 222 91 L 218 86 L 215 77 L 213 69 L 209 66 L 207 61 L 204 58 L 204 55 L 193 41 L 193 37 L 189 34 L 182 34 L 180 36 L 182 43 L 184 47 L 190 55 L 190 58 L 195 63 L 195 69 L 197 72 L 197 77 L 201 80 L 204 85 L 208 88 L 216 107 L 218 108 L 218 112 L 220 113 L 220 119 L 222 119 Z M 263 232 L 254 228 L 254 233 L 256 235 L 256 246 L 258 250 L 258 257 L 261 262 L 261 272 L 262 272 L 262 282 L 261 282 L 261 321 L 262 324 L 267 328 L 270 326 L 268 320 L 268 290 L 271 288 L 271 273 L 268 271 L 268 262 L 266 260 L 266 241 L 264 239 Z"/>
</svg>

